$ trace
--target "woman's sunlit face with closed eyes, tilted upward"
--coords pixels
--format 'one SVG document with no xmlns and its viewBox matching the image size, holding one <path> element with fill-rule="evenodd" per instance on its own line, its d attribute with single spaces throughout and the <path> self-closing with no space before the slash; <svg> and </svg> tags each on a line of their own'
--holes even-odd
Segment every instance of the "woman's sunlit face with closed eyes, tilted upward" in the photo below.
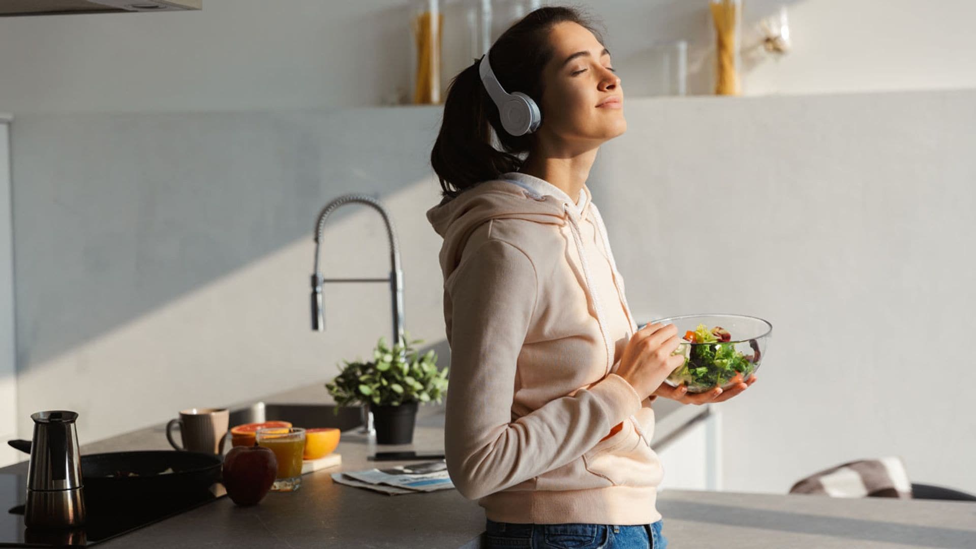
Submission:
<svg viewBox="0 0 976 549">
<path fill-rule="evenodd" d="M 540 138 L 591 148 L 627 131 L 624 89 L 603 44 L 575 22 L 554 25 L 549 43 L 553 55 L 543 69 Z M 605 104 L 608 99 L 619 103 Z"/>
</svg>

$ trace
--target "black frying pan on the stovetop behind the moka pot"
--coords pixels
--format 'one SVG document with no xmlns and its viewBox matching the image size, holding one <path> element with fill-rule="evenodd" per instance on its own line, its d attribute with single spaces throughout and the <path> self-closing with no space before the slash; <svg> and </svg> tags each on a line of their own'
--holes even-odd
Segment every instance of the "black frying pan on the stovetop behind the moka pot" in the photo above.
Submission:
<svg viewBox="0 0 976 549">
<path fill-rule="evenodd" d="M 30 441 L 8 441 L 30 453 Z M 85 499 L 197 495 L 221 481 L 221 458 L 183 450 L 143 450 L 81 456 Z M 172 472 L 171 472 L 172 471 Z"/>
</svg>

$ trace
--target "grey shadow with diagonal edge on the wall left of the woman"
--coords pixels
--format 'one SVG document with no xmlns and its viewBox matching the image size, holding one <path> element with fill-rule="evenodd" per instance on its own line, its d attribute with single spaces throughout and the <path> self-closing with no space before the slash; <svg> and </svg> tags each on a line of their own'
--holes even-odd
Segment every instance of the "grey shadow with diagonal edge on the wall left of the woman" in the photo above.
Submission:
<svg viewBox="0 0 976 549">
<path fill-rule="evenodd" d="M 19 117 L 20 371 L 300 240 L 307 272 L 281 284 L 307 292 L 319 209 L 342 193 L 389 195 L 428 180 L 431 120 L 427 109 Z M 343 130 L 352 127 L 386 131 L 366 147 L 364 132 Z M 341 208 L 330 224 L 357 211 Z M 388 265 L 385 254 L 370 255 Z M 323 259 L 326 275 L 337 263 L 348 262 Z M 357 260 L 339 275 L 370 265 Z"/>
</svg>

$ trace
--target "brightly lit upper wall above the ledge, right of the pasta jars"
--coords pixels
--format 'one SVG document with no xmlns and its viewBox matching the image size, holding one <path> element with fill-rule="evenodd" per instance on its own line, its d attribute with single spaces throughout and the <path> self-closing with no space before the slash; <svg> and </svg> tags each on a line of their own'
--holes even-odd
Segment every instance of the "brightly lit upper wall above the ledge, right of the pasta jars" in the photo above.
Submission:
<svg viewBox="0 0 976 549">
<path fill-rule="evenodd" d="M 756 63 L 747 94 L 976 87 L 973 2 L 806 0 L 789 17 L 793 52 Z"/>
</svg>

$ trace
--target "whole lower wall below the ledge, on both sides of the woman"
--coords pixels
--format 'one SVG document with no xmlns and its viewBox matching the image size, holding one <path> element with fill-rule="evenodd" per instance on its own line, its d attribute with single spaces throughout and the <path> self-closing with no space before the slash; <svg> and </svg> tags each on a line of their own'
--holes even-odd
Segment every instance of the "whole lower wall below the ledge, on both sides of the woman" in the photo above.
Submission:
<svg viewBox="0 0 976 549">
<path fill-rule="evenodd" d="M 722 486 L 782 493 L 893 454 L 916 482 L 976 492 L 963 395 L 976 370 L 956 353 L 976 307 L 976 92 L 628 105 L 590 188 L 631 307 L 775 326 L 759 382 L 719 404 Z M 389 205 L 407 327 L 443 347 L 439 237 L 424 217 L 439 114 L 18 118 L 21 434 L 57 405 L 82 413 L 91 441 L 324 381 L 367 354 L 388 332 L 383 285 L 328 288 L 329 330 L 308 328 L 314 217 L 342 192 Z M 378 216 L 335 223 L 326 275 L 385 274 Z"/>
</svg>

